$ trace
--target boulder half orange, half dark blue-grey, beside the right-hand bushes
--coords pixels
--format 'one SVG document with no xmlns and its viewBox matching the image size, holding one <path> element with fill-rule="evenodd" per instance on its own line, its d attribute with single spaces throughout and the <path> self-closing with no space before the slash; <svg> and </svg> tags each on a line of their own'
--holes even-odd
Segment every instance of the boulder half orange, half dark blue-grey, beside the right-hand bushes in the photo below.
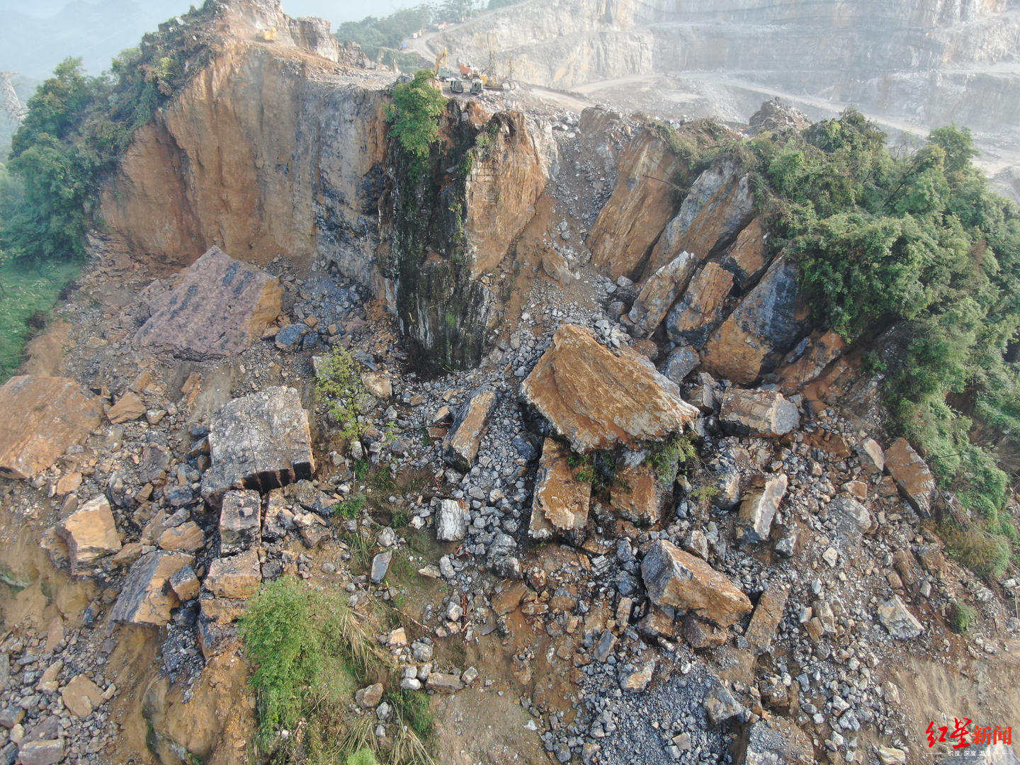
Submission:
<svg viewBox="0 0 1020 765">
<path fill-rule="evenodd" d="M 797 266 L 779 257 L 709 338 L 702 365 L 717 377 L 750 385 L 772 371 L 808 327 Z"/>
</svg>

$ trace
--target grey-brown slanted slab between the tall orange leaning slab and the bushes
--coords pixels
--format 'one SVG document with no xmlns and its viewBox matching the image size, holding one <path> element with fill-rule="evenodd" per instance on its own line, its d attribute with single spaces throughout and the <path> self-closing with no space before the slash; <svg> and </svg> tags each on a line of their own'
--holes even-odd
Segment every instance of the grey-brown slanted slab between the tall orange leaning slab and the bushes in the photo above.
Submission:
<svg viewBox="0 0 1020 765">
<path fill-rule="evenodd" d="M 754 215 L 749 176 L 732 162 L 705 170 L 691 187 L 676 217 L 652 250 L 647 272 L 661 268 L 686 251 L 704 261 L 728 245 Z"/>
</svg>

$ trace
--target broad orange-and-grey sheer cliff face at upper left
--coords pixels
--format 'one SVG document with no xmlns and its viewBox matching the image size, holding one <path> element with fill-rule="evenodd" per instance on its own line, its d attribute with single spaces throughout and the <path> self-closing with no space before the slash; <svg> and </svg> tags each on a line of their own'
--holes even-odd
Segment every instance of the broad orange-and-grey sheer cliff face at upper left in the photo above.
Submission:
<svg viewBox="0 0 1020 765">
<path fill-rule="evenodd" d="M 176 266 L 212 245 L 256 263 L 323 254 L 373 284 L 365 208 L 386 156 L 385 94 L 289 43 L 227 49 L 135 133 L 102 200 L 133 250 Z"/>
</svg>

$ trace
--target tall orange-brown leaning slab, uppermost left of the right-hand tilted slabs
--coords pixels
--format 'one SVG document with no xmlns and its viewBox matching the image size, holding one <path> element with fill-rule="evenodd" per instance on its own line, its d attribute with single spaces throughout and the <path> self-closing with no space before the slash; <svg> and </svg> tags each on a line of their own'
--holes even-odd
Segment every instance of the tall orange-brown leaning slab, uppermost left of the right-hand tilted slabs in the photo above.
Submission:
<svg viewBox="0 0 1020 765">
<path fill-rule="evenodd" d="M 633 273 L 676 214 L 676 192 L 660 178 L 672 177 L 681 161 L 658 136 L 644 131 L 624 149 L 618 167 L 616 188 L 588 237 L 592 263 L 613 278 Z M 671 251 L 646 272 L 671 262 L 682 249 Z"/>
</svg>

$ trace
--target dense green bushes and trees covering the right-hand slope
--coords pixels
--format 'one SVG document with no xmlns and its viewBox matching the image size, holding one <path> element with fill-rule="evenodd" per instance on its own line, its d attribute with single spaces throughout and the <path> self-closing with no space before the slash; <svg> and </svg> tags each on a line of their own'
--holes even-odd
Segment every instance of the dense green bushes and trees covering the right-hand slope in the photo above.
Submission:
<svg viewBox="0 0 1020 765">
<path fill-rule="evenodd" d="M 900 158 L 848 111 L 738 151 L 817 323 L 879 349 L 895 428 L 980 518 L 1001 573 L 1020 466 L 1020 211 L 971 163 L 966 129 Z"/>
</svg>

